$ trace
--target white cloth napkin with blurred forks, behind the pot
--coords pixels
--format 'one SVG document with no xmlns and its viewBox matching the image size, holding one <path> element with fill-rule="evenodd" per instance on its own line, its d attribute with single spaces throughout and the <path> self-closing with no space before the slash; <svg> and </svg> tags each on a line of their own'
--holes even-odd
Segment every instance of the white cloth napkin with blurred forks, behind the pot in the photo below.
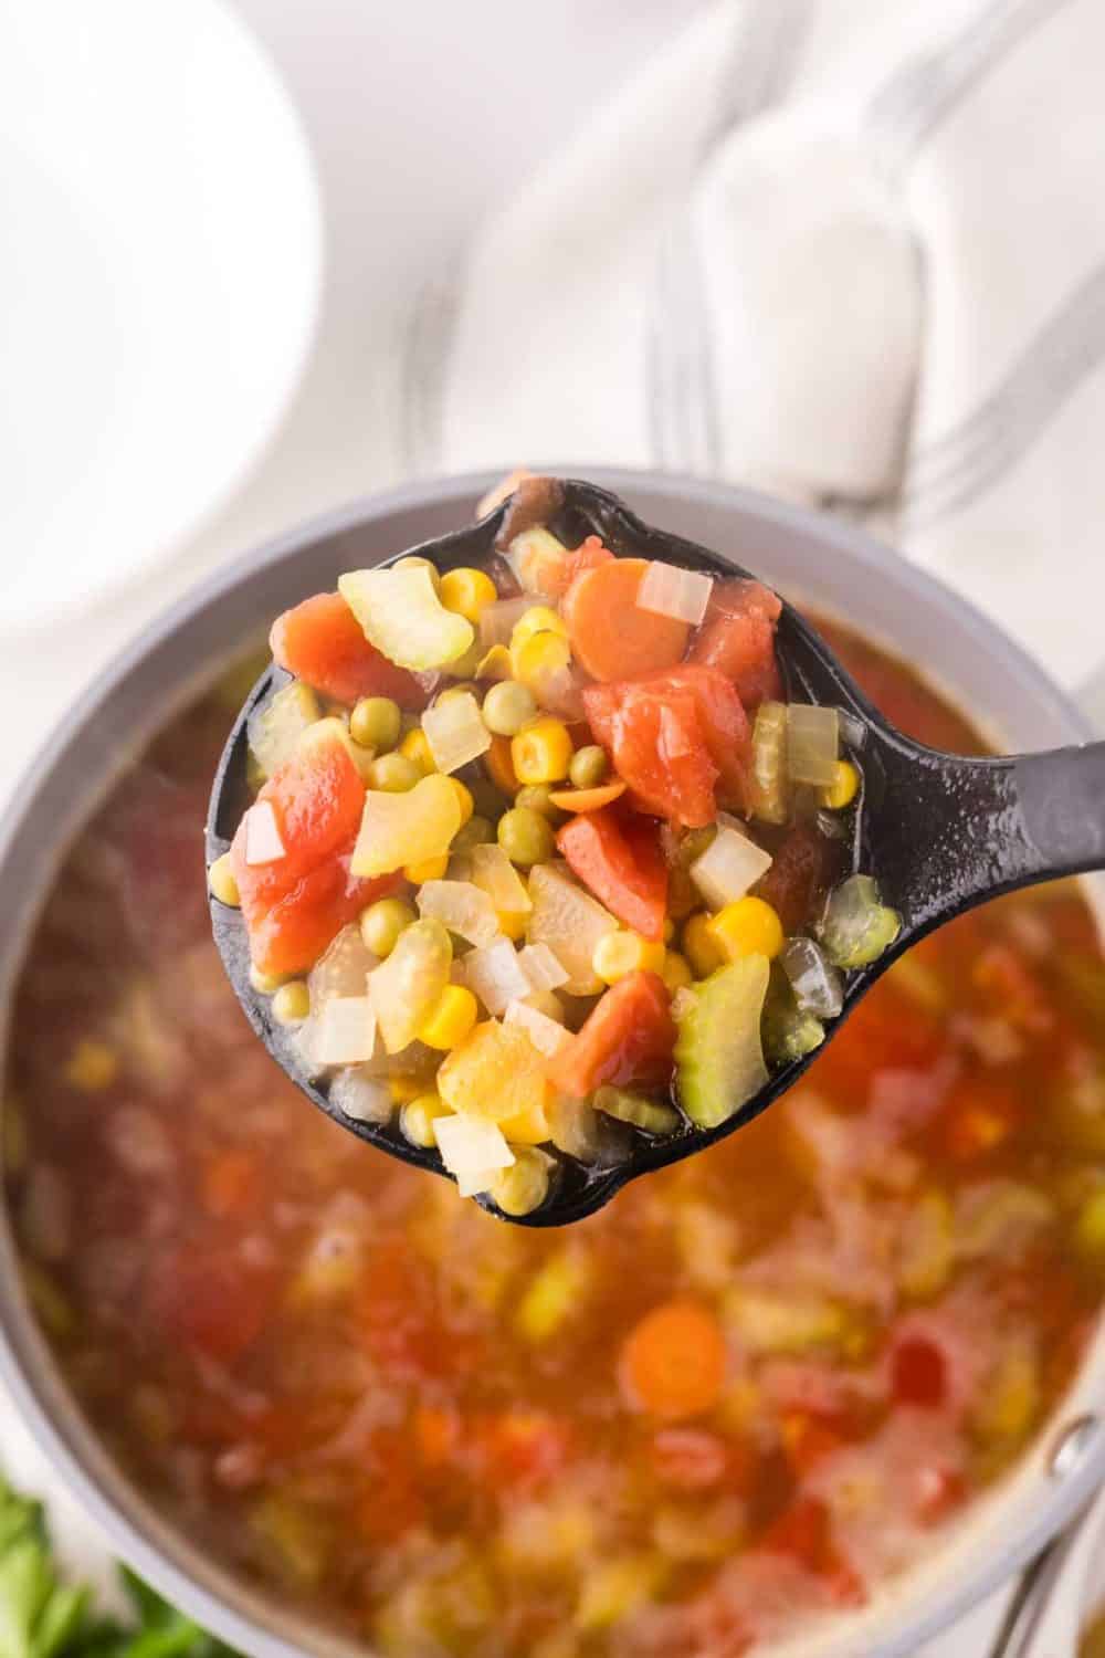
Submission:
<svg viewBox="0 0 1105 1658">
<path fill-rule="evenodd" d="M 1105 657 L 1105 5 L 719 0 L 417 308 L 408 468 L 852 512 L 1069 685 Z M 1070 602 L 1070 594 L 1077 602 Z"/>
</svg>

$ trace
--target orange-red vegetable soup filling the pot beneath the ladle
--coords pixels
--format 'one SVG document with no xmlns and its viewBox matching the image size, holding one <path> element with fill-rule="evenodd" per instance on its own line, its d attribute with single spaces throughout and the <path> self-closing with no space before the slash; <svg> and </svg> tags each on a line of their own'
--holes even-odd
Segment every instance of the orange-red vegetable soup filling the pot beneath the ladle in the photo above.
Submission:
<svg viewBox="0 0 1105 1658">
<path fill-rule="evenodd" d="M 835 643 L 916 736 L 979 746 Z M 1077 887 L 934 935 L 765 1117 L 528 1232 L 368 1152 L 250 1035 L 200 861 L 225 721 L 210 695 L 116 788 L 15 1010 L 27 1282 L 113 1454 L 396 1658 L 736 1658 L 861 1605 L 1019 1457 L 1092 1331 L 1105 967 Z"/>
</svg>

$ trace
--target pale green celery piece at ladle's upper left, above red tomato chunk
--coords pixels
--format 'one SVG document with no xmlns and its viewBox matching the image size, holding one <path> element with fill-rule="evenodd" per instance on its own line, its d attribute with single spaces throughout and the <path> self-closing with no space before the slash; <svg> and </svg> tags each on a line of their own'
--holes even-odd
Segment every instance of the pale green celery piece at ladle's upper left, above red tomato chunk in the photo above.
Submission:
<svg viewBox="0 0 1105 1658">
<path fill-rule="evenodd" d="M 351 570 L 338 590 L 376 650 L 414 673 L 456 663 L 475 643 L 470 622 L 446 610 L 429 570 Z"/>
</svg>

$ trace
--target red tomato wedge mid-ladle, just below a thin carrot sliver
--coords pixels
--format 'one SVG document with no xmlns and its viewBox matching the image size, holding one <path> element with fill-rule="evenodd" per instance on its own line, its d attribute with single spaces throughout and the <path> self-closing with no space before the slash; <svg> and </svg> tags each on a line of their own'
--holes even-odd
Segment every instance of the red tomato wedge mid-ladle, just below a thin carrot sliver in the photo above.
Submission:
<svg viewBox="0 0 1105 1658">
<path fill-rule="evenodd" d="M 668 865 L 653 824 L 610 806 L 580 812 L 557 846 L 575 875 L 606 909 L 643 938 L 661 942 L 668 910 Z"/>
</svg>

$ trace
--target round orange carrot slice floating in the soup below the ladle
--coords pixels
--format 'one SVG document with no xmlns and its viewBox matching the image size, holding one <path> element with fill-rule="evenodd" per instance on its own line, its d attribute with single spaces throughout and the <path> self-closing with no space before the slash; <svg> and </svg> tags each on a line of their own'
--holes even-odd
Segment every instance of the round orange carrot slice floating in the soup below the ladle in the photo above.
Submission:
<svg viewBox="0 0 1105 1658">
<path fill-rule="evenodd" d="M 726 1381 L 726 1338 L 699 1302 L 666 1302 L 630 1331 L 618 1379 L 633 1409 L 666 1421 L 709 1411 Z"/>
</svg>

